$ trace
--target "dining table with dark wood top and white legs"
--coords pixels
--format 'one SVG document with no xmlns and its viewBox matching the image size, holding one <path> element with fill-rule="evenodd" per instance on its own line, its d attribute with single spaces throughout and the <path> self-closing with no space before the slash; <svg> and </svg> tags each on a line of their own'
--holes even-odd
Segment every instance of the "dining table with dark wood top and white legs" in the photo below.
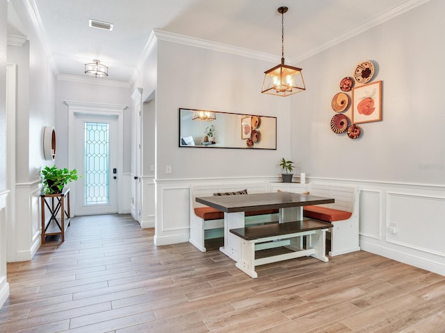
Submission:
<svg viewBox="0 0 445 333">
<path fill-rule="evenodd" d="M 279 222 L 284 223 L 301 221 L 303 206 L 334 203 L 333 198 L 291 192 L 207 196 L 197 197 L 195 200 L 224 212 L 224 246 L 220 247 L 220 251 L 235 261 L 238 261 L 240 244 L 229 230 L 244 228 L 245 212 L 278 209 Z"/>
</svg>

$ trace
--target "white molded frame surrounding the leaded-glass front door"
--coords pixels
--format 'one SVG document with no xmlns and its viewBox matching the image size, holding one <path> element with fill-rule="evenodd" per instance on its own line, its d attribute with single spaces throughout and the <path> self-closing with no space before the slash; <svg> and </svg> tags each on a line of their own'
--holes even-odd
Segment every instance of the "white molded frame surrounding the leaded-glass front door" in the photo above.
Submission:
<svg viewBox="0 0 445 333">
<path fill-rule="evenodd" d="M 74 160 L 76 152 L 74 151 L 74 140 L 75 140 L 75 130 L 74 130 L 74 118 L 75 114 L 83 115 L 105 115 L 105 116 L 115 116 L 118 118 L 118 213 L 122 214 L 123 198 L 120 195 L 122 193 L 122 169 L 124 167 L 124 110 L 127 105 L 122 104 L 106 104 L 106 103 L 92 103 L 92 102 L 80 102 L 80 101 L 65 101 L 68 105 L 68 168 L 74 169 Z M 71 216 L 75 216 L 75 195 L 72 194 L 71 200 Z"/>
</svg>

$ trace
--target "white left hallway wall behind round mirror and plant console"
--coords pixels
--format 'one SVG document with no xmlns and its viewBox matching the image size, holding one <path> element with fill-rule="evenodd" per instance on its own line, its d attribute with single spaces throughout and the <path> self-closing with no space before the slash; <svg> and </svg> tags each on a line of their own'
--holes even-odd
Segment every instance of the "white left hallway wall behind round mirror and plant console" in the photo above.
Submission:
<svg viewBox="0 0 445 333">
<path fill-rule="evenodd" d="M 8 253 L 8 258 L 20 261 L 31 259 L 40 246 L 40 168 L 47 164 L 42 151 L 42 130 L 55 124 L 56 78 L 26 4 L 15 1 L 10 6 L 21 21 L 20 32 L 29 40 L 24 46 L 8 46 L 7 55 L 8 62 L 17 64 L 17 207 L 15 234 L 8 234 L 8 241 L 15 242 L 15 253 Z"/>
</svg>

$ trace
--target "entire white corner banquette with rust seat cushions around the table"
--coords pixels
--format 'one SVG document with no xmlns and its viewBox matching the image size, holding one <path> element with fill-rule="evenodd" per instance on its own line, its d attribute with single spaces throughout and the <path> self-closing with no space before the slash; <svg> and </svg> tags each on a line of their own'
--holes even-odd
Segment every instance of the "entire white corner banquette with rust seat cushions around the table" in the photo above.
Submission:
<svg viewBox="0 0 445 333">
<path fill-rule="evenodd" d="M 205 252 L 205 239 L 223 237 L 224 213 L 214 208 L 196 203 L 198 196 L 227 194 L 246 189 L 249 194 L 266 191 L 291 191 L 308 193 L 314 196 L 334 198 L 335 202 L 325 205 L 303 207 L 303 215 L 332 223 L 327 239 L 330 239 L 330 256 L 360 250 L 359 247 L 359 189 L 346 185 L 332 185 L 321 182 L 298 183 L 239 182 L 211 183 L 191 187 L 190 203 L 190 243 Z M 245 225 L 257 225 L 278 221 L 277 211 L 252 212 L 245 216 Z M 229 232 L 226 230 L 226 232 Z"/>
</svg>

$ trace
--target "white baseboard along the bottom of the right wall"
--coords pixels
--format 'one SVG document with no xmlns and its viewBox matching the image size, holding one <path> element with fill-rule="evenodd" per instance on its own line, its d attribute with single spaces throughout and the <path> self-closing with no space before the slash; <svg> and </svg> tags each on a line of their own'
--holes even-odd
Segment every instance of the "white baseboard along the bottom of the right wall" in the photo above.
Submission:
<svg viewBox="0 0 445 333">
<path fill-rule="evenodd" d="M 425 258 L 414 257 L 407 253 L 401 253 L 391 248 L 385 248 L 383 246 L 376 246 L 375 244 L 366 243 L 366 241 L 360 241 L 360 247 L 362 250 L 375 255 L 381 255 L 389 259 L 396 260 L 398 262 L 403 262 L 414 267 L 425 269 L 433 273 L 440 275 L 445 275 L 445 264 L 440 262 L 435 262 Z"/>
</svg>

